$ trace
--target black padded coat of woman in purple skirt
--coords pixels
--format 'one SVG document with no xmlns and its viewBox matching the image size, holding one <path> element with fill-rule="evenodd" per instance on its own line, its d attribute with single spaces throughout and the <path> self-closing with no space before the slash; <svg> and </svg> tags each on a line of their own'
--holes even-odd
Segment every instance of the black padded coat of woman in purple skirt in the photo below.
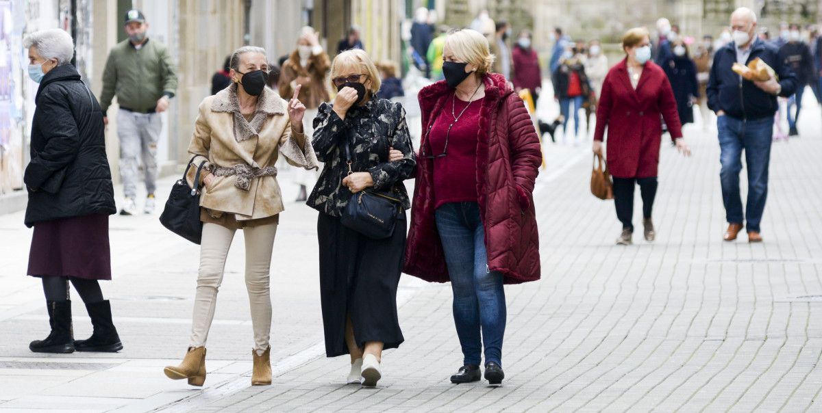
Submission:
<svg viewBox="0 0 822 413">
<path fill-rule="evenodd" d="M 105 153 L 103 112 L 72 65 L 40 82 L 31 125 L 25 225 L 58 218 L 112 214 L 114 190 Z"/>
</svg>

